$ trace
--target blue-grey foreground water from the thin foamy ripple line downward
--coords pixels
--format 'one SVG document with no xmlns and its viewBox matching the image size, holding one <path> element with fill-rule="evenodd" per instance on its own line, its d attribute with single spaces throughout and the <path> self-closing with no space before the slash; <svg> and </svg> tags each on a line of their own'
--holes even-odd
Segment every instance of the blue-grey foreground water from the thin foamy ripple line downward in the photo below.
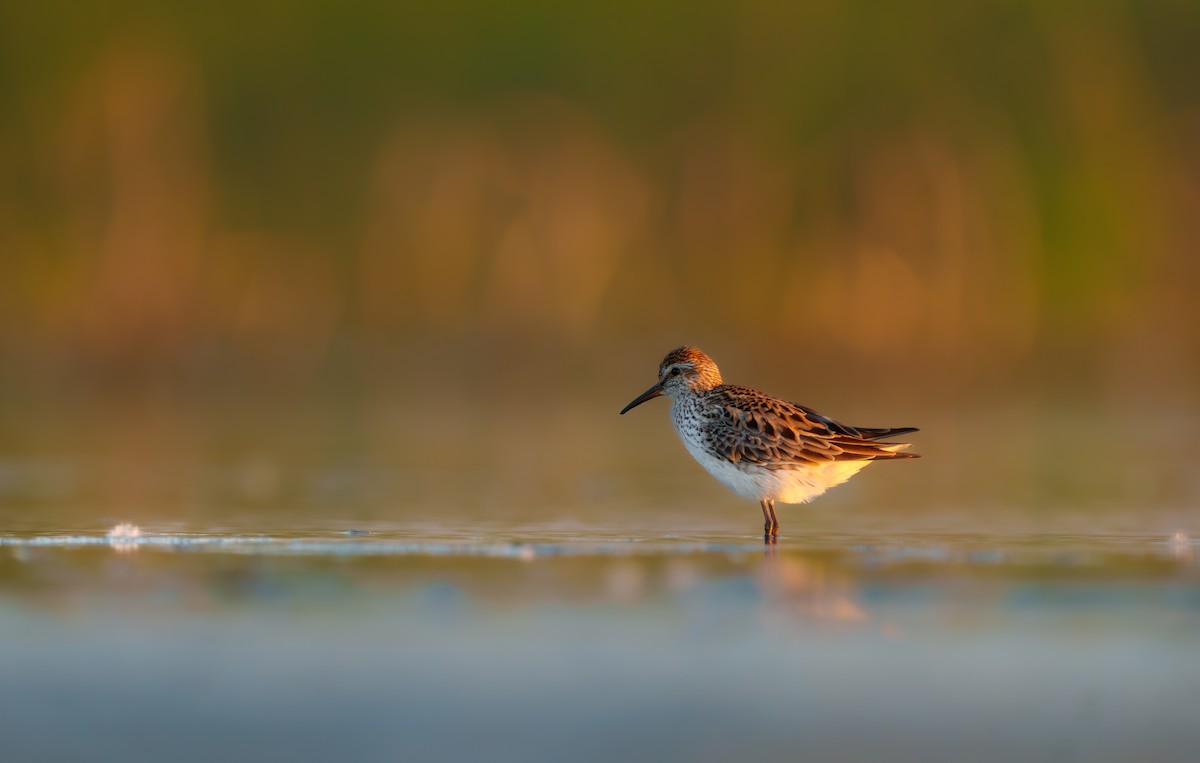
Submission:
<svg viewBox="0 0 1200 763">
<path fill-rule="evenodd" d="M 6 757 L 1194 758 L 1187 535 L 732 527 L 8 533 Z"/>
</svg>

